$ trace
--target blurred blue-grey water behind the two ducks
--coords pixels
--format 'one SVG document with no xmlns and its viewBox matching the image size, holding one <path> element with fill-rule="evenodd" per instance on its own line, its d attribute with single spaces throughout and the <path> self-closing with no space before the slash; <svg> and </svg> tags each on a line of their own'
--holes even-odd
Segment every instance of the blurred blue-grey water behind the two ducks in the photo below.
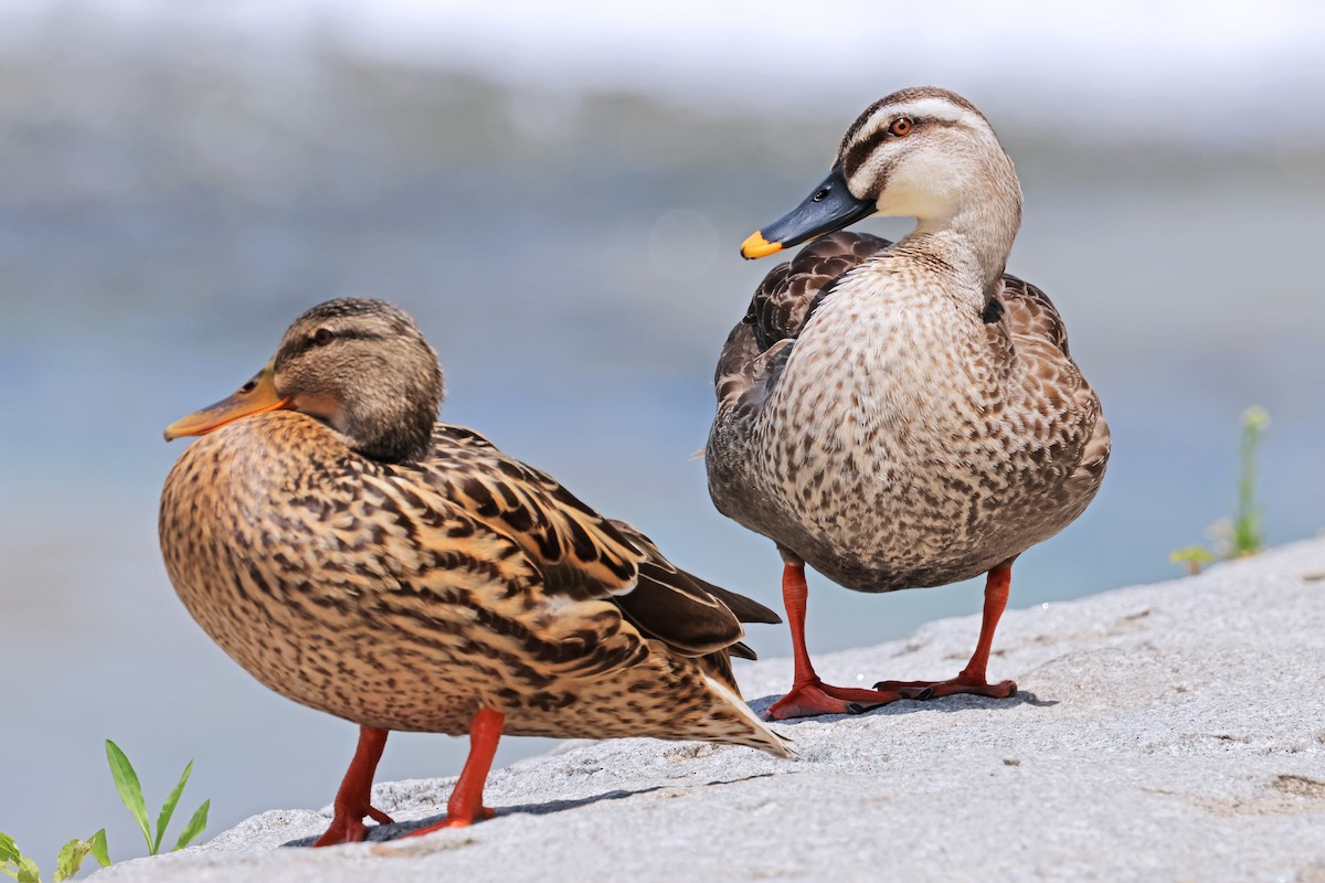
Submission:
<svg viewBox="0 0 1325 883">
<path fill-rule="evenodd" d="M 403 304 L 443 356 L 448 420 L 778 605 L 778 556 L 712 508 L 690 459 L 718 347 L 772 266 L 737 246 L 901 86 L 994 120 L 1026 191 L 1008 269 L 1059 303 L 1113 425 L 1102 492 L 1022 559 L 1012 604 L 1177 576 L 1169 552 L 1232 504 L 1253 402 L 1273 420 L 1269 536 L 1316 534 L 1322 21 L 1305 3 L 11 0 L 0 830 L 42 864 L 102 825 L 113 855 L 138 854 L 105 737 L 154 806 L 195 759 L 180 812 L 211 797 L 211 833 L 330 802 L 354 728 L 227 659 L 156 548 L 182 450 L 162 428 L 326 298 Z M 811 585 L 820 654 L 980 604 L 978 584 Z M 788 653 L 782 629 L 750 643 Z M 545 747 L 507 740 L 498 763 Z M 380 776 L 453 774 L 464 751 L 392 736 Z"/>
</svg>

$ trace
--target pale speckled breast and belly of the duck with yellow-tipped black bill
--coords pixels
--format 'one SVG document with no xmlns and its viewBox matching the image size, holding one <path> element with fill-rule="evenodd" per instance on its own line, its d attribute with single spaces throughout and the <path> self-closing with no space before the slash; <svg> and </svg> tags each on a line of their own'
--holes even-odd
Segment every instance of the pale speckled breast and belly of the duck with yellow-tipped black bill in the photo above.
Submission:
<svg viewBox="0 0 1325 883">
<path fill-rule="evenodd" d="M 836 582 L 888 592 L 977 576 L 1071 520 L 1053 506 L 1065 470 L 1018 432 L 982 327 L 894 312 L 873 328 L 814 328 L 770 396 L 770 536 Z"/>
</svg>

